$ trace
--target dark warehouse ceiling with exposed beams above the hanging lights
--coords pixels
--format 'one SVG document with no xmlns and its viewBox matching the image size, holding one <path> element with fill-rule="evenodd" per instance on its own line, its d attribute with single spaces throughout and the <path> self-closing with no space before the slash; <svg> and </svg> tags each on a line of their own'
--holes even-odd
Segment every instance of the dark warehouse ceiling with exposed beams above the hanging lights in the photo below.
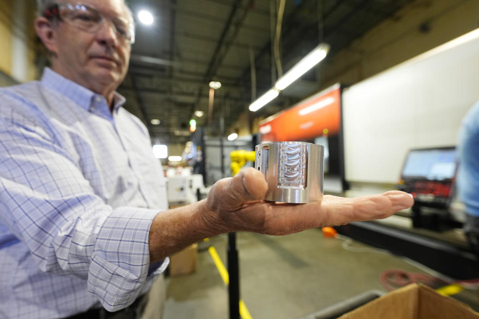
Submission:
<svg viewBox="0 0 479 319">
<path fill-rule="evenodd" d="M 285 0 L 281 10 L 280 0 L 127 0 L 135 15 L 148 9 L 155 21 L 152 25 L 136 21 L 130 69 L 119 92 L 129 101 L 127 109 L 145 122 L 157 142 L 188 141 L 190 119 L 207 127 L 211 136 L 220 135 L 223 121 L 222 135 L 230 134 L 252 100 L 274 84 L 277 57 L 284 73 L 326 42 L 331 47 L 323 62 L 327 63 L 410 1 Z M 281 15 L 279 55 L 275 55 L 276 22 Z M 318 91 L 316 76 L 315 71 L 306 73 L 243 125 L 251 126 L 253 117 L 272 115 Z M 215 91 L 209 110 L 212 80 L 222 87 Z M 204 116 L 195 116 L 195 111 L 203 111 Z M 152 119 L 160 124 L 151 124 Z"/>
</svg>

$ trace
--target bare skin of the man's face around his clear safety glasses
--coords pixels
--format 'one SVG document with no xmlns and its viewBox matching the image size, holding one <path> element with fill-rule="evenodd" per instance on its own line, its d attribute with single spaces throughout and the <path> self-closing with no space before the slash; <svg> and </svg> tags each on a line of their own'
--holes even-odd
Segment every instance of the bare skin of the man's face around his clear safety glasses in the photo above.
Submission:
<svg viewBox="0 0 479 319">
<path fill-rule="evenodd" d="M 58 3 L 67 2 L 59 1 Z M 76 2 L 74 2 L 76 3 Z M 82 0 L 106 17 L 130 19 L 121 0 Z M 65 21 L 54 26 L 56 32 L 55 71 L 102 94 L 105 88 L 118 87 L 128 70 L 130 44 L 117 36 L 105 21 L 95 32 L 81 30 Z"/>
</svg>

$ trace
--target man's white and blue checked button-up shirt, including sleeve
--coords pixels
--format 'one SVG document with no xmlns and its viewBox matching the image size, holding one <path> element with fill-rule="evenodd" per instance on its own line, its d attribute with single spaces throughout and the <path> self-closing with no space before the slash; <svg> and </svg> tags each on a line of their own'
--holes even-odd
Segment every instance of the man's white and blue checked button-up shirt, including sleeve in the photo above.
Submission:
<svg viewBox="0 0 479 319">
<path fill-rule="evenodd" d="M 151 286 L 148 233 L 168 207 L 146 127 L 45 69 L 0 89 L 0 318 L 116 311 Z"/>
</svg>

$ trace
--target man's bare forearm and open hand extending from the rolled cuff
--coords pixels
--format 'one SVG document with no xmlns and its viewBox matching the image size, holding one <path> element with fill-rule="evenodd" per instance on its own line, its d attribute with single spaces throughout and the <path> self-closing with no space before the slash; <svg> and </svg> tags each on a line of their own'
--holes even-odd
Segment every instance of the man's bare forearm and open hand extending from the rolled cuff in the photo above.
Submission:
<svg viewBox="0 0 479 319">
<path fill-rule="evenodd" d="M 150 261 L 157 262 L 199 240 L 221 233 L 250 231 L 287 235 L 308 228 L 388 217 L 411 207 L 412 197 L 402 191 L 357 198 L 325 195 L 308 204 L 262 200 L 268 189 L 263 174 L 241 170 L 216 182 L 208 198 L 158 213 L 150 227 Z"/>
</svg>

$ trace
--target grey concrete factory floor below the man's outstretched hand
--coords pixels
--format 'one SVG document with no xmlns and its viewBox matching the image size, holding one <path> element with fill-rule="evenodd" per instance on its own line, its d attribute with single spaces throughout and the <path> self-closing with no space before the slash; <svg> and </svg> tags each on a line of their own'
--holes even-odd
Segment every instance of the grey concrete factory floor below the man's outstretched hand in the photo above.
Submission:
<svg viewBox="0 0 479 319">
<path fill-rule="evenodd" d="M 227 241 L 220 235 L 208 242 L 225 266 Z M 387 269 L 425 273 L 400 257 L 373 253 L 358 242 L 345 249 L 344 243 L 320 229 L 288 236 L 238 233 L 240 298 L 250 318 L 297 319 L 366 291 L 387 292 L 379 279 Z M 477 291 L 453 297 L 479 311 Z M 200 249 L 195 273 L 167 277 L 164 319 L 228 317 L 228 288 L 208 249 Z"/>
</svg>

